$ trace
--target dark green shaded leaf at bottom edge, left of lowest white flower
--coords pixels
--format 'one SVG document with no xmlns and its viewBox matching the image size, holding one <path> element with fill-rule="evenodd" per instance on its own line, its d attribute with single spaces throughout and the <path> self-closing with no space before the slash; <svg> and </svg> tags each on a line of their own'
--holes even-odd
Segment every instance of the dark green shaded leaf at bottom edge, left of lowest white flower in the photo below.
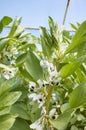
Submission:
<svg viewBox="0 0 86 130">
<path fill-rule="evenodd" d="M 30 130 L 30 128 L 25 120 L 17 118 L 10 130 Z"/>
</svg>

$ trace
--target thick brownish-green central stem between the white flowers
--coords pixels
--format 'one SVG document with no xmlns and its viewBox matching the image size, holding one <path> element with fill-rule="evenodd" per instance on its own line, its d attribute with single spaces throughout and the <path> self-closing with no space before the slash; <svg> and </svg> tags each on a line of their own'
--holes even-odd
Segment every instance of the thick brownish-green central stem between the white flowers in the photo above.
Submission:
<svg viewBox="0 0 86 130">
<path fill-rule="evenodd" d="M 46 115 L 48 114 L 49 105 L 50 105 L 50 99 L 52 97 L 53 89 L 54 89 L 54 86 L 50 86 L 48 95 L 46 97 Z"/>
</svg>

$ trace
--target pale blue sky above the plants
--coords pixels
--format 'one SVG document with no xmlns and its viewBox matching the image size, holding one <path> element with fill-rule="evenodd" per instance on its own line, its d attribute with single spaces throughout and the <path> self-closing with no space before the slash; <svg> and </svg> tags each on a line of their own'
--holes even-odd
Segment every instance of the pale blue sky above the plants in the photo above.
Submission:
<svg viewBox="0 0 86 130">
<path fill-rule="evenodd" d="M 23 26 L 48 26 L 48 16 L 62 24 L 67 0 L 0 0 L 0 19 L 3 16 L 22 17 Z M 70 23 L 86 20 L 86 0 L 70 0 L 65 28 Z"/>
</svg>

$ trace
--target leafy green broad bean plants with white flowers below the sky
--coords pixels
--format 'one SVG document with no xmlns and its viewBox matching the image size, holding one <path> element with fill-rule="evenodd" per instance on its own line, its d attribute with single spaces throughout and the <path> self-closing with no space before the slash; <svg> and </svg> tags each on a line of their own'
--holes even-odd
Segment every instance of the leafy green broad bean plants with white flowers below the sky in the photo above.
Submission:
<svg viewBox="0 0 86 130">
<path fill-rule="evenodd" d="M 40 37 L 20 23 L 0 20 L 0 130 L 86 130 L 86 21 L 70 33 L 49 17 Z"/>
</svg>

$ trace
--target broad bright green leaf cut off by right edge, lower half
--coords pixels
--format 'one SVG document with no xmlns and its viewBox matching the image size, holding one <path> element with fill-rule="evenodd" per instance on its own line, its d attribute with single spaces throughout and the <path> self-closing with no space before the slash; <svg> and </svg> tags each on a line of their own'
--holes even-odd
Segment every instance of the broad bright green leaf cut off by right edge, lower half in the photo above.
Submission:
<svg viewBox="0 0 86 130">
<path fill-rule="evenodd" d="M 80 84 L 69 96 L 71 108 L 78 108 L 86 104 L 86 82 Z"/>
</svg>

